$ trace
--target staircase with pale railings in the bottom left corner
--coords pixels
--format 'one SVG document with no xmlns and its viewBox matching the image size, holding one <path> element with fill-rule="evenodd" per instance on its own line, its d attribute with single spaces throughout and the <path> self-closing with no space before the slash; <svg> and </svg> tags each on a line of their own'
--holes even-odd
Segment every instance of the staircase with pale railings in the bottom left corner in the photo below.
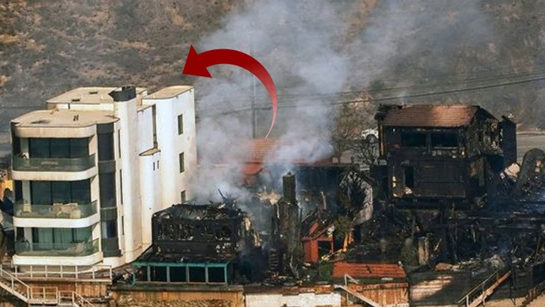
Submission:
<svg viewBox="0 0 545 307">
<path fill-rule="evenodd" d="M 94 306 L 74 291 L 59 291 L 56 287 L 30 287 L 1 267 L 0 287 L 29 306 Z"/>
</svg>

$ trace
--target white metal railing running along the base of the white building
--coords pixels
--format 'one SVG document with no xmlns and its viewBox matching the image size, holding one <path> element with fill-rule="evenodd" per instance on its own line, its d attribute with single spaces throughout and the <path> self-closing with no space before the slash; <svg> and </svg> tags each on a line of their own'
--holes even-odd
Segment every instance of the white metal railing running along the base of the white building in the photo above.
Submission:
<svg viewBox="0 0 545 307">
<path fill-rule="evenodd" d="M 112 281 L 112 265 L 0 265 L 18 278 L 73 278 Z"/>
</svg>

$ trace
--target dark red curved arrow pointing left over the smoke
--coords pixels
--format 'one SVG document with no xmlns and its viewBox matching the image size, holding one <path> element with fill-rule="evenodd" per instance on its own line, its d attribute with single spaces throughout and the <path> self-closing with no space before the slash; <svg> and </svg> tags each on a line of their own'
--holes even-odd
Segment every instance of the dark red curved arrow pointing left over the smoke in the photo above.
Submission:
<svg viewBox="0 0 545 307">
<path fill-rule="evenodd" d="M 249 71 L 258 77 L 261 83 L 265 85 L 267 92 L 269 92 L 270 100 L 272 101 L 272 123 L 270 124 L 267 136 L 265 136 L 265 138 L 267 138 L 272 130 L 272 126 L 275 125 L 278 104 L 275 83 L 272 81 L 272 78 L 270 78 L 268 71 L 256 59 L 253 59 L 253 57 L 244 52 L 233 49 L 213 49 L 198 54 L 195 51 L 195 48 L 193 48 L 193 45 L 191 45 L 186 59 L 186 66 L 184 66 L 184 71 L 182 73 L 184 75 L 212 78 L 207 68 L 218 64 L 231 64 L 244 68 L 246 71 Z"/>
</svg>

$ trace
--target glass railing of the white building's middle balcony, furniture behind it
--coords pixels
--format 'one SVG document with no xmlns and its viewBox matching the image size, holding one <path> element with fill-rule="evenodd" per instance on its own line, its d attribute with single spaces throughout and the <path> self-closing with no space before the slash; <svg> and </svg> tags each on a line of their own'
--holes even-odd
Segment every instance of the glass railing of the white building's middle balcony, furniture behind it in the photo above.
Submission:
<svg viewBox="0 0 545 307">
<path fill-rule="evenodd" d="M 97 201 L 92 203 L 54 203 L 53 205 L 32 205 L 16 203 L 13 212 L 21 218 L 83 219 L 97 213 Z"/>
</svg>

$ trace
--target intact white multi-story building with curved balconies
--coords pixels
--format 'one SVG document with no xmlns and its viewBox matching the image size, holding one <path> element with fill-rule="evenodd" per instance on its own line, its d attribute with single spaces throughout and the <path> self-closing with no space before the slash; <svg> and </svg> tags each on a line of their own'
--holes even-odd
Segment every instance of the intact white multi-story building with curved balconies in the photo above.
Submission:
<svg viewBox="0 0 545 307">
<path fill-rule="evenodd" d="M 193 87 L 76 88 L 11 121 L 16 265 L 122 265 L 191 197 Z"/>
</svg>

